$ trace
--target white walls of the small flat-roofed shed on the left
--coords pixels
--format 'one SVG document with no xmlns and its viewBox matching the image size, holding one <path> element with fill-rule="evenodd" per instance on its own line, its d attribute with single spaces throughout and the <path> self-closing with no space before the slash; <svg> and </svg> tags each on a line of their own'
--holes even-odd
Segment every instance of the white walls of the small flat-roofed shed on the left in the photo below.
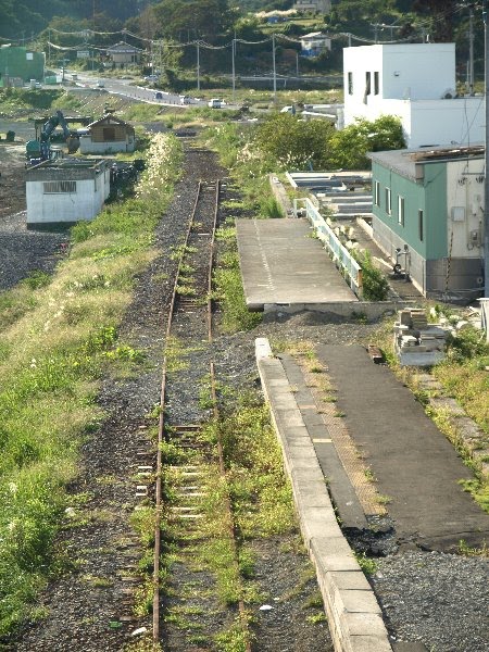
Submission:
<svg viewBox="0 0 489 652">
<path fill-rule="evenodd" d="M 53 179 L 54 180 L 54 179 Z M 76 192 L 43 193 L 43 181 L 26 183 L 27 224 L 92 220 L 102 209 L 109 181 L 105 174 L 76 181 Z"/>
</svg>

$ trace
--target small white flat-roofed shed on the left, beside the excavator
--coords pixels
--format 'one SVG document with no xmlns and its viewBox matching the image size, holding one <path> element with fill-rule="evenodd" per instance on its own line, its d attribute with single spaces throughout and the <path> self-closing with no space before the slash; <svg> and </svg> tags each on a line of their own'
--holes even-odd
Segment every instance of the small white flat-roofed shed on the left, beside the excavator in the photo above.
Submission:
<svg viewBox="0 0 489 652">
<path fill-rule="evenodd" d="M 110 192 L 104 160 L 58 159 L 26 171 L 27 226 L 92 220 Z"/>
</svg>

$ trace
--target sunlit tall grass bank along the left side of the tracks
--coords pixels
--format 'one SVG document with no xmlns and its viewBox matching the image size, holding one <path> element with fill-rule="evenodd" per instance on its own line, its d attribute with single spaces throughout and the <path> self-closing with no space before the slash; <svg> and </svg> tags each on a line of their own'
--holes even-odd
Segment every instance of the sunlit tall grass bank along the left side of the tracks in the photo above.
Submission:
<svg viewBox="0 0 489 652">
<path fill-rule="evenodd" d="M 99 378 L 140 358 L 118 341 L 117 324 L 135 275 L 155 255 L 153 228 L 179 161 L 176 139 L 154 136 L 137 197 L 77 225 L 48 286 L 0 296 L 0 637 L 26 616 L 49 573 L 65 485 L 102 418 Z"/>
</svg>

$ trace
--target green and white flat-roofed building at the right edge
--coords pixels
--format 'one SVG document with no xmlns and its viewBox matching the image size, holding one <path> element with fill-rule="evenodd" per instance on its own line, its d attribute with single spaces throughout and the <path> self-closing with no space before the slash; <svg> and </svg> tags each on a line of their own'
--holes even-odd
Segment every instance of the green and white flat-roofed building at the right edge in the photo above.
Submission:
<svg viewBox="0 0 489 652">
<path fill-rule="evenodd" d="M 373 234 L 430 298 L 471 300 L 484 285 L 484 147 L 375 152 Z"/>
</svg>

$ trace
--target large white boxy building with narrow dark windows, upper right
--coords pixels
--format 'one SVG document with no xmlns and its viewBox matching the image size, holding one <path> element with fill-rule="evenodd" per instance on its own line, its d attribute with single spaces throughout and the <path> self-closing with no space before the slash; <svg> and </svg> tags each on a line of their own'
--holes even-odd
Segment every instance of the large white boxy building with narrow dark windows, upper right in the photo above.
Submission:
<svg viewBox="0 0 489 652">
<path fill-rule="evenodd" d="M 484 97 L 455 97 L 454 43 L 343 49 L 344 126 L 397 115 L 409 148 L 485 139 Z"/>
</svg>

